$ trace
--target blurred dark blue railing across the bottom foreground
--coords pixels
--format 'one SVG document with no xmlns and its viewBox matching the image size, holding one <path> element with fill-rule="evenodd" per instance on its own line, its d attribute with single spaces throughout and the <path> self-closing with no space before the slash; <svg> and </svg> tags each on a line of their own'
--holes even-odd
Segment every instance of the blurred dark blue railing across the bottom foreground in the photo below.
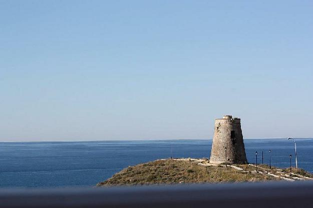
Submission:
<svg viewBox="0 0 313 208">
<path fill-rule="evenodd" d="M 313 183 L 0 189 L 0 207 L 313 207 Z"/>
</svg>

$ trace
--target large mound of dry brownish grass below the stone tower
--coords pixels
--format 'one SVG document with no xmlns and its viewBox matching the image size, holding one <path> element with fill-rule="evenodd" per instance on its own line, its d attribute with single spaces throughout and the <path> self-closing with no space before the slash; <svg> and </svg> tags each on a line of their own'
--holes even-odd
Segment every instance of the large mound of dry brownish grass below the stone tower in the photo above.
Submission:
<svg viewBox="0 0 313 208">
<path fill-rule="evenodd" d="M 97 186 L 173 183 L 218 183 L 275 180 L 266 174 L 242 172 L 231 167 L 201 166 L 192 161 L 156 160 L 129 166 Z"/>
</svg>

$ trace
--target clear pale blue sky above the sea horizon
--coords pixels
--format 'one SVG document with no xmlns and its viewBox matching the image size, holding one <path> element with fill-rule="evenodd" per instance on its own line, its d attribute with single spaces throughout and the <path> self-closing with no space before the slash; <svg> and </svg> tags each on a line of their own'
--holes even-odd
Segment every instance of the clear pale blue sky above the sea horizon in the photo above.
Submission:
<svg viewBox="0 0 313 208">
<path fill-rule="evenodd" d="M 0 141 L 313 137 L 313 1 L 0 0 Z"/>
</svg>

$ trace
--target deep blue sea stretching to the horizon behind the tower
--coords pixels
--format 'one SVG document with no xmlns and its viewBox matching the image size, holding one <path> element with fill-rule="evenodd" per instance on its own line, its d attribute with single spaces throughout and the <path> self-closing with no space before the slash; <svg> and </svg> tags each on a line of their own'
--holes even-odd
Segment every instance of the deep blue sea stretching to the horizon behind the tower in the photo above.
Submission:
<svg viewBox="0 0 313 208">
<path fill-rule="evenodd" d="M 288 167 L 294 143 L 244 139 L 249 162 Z M 313 139 L 296 140 L 298 167 L 313 172 Z M 209 157 L 212 140 L 0 142 L 0 187 L 94 186 L 129 165 L 170 157 Z"/>
</svg>

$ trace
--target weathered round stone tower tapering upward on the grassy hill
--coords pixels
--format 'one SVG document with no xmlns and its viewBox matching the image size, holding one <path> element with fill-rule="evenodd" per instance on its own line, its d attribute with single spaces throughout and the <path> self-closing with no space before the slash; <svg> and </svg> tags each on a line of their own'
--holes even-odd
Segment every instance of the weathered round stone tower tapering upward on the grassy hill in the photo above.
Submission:
<svg viewBox="0 0 313 208">
<path fill-rule="evenodd" d="M 226 150 L 225 150 L 226 147 Z M 210 163 L 248 163 L 240 125 L 240 118 L 224 115 L 215 119 Z"/>
</svg>

